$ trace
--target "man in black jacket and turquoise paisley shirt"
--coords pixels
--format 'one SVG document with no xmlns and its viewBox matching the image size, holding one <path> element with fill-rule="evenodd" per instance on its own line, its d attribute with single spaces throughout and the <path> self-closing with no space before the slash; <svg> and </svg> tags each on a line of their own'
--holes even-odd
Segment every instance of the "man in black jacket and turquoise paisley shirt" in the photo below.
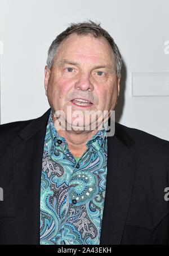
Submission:
<svg viewBox="0 0 169 256">
<path fill-rule="evenodd" d="M 168 244 L 169 142 L 116 122 L 114 136 L 106 131 L 121 65 L 113 38 L 92 21 L 52 42 L 51 108 L 0 126 L 0 244 Z M 87 111 L 108 116 L 88 120 Z"/>
</svg>

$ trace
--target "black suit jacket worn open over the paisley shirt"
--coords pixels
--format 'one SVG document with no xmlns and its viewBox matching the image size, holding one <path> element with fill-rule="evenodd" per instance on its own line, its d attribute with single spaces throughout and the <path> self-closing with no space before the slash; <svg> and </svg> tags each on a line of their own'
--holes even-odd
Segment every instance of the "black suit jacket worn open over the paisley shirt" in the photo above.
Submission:
<svg viewBox="0 0 169 256">
<path fill-rule="evenodd" d="M 0 126 L 0 244 L 39 244 L 43 145 L 50 110 Z M 100 244 L 168 244 L 169 142 L 115 123 Z"/>
</svg>

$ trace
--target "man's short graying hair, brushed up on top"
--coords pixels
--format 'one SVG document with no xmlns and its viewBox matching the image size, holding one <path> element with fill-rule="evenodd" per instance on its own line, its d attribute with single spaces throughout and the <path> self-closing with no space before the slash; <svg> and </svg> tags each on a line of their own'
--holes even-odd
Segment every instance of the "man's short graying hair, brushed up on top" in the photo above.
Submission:
<svg viewBox="0 0 169 256">
<path fill-rule="evenodd" d="M 122 56 L 118 50 L 117 45 L 114 42 L 114 39 L 110 36 L 110 34 L 100 27 L 100 23 L 94 23 L 94 21 L 86 21 L 83 23 L 71 23 L 66 30 L 61 32 L 56 39 L 52 42 L 49 50 L 48 50 L 48 57 L 47 57 L 47 65 L 48 68 L 52 68 L 52 64 L 54 61 L 54 57 L 56 54 L 56 50 L 61 44 L 61 42 L 64 41 L 65 38 L 68 38 L 70 34 L 78 34 L 78 35 L 84 35 L 84 34 L 91 34 L 95 38 L 103 37 L 106 39 L 106 41 L 109 43 L 110 47 L 113 50 L 114 56 L 115 56 L 115 66 L 116 66 L 116 72 L 117 77 L 121 77 L 121 68 L 122 68 Z"/>
</svg>

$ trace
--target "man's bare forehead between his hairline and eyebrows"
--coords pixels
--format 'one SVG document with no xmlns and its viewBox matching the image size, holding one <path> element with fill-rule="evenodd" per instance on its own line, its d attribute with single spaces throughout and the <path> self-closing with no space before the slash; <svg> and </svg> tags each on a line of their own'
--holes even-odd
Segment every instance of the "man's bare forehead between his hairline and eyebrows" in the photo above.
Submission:
<svg viewBox="0 0 169 256">
<path fill-rule="evenodd" d="M 95 39 L 101 40 L 100 38 L 94 38 L 93 36 L 73 34 L 72 38 L 67 38 L 61 43 L 60 47 L 56 51 L 55 61 L 58 65 L 73 64 L 79 65 L 81 61 L 88 62 L 90 60 L 94 64 L 107 66 L 112 65 L 114 54 L 112 48 L 103 41 L 99 47 L 95 47 Z M 87 43 L 89 38 L 89 42 Z M 71 39 L 71 40 L 69 40 Z M 79 39 L 81 43 L 79 43 Z M 92 43 L 90 42 L 92 40 Z M 98 45 L 97 45 L 98 46 Z M 98 62 L 98 63 L 97 63 Z M 114 62 L 114 61 L 113 61 Z M 108 67 L 109 68 L 109 67 Z"/>
</svg>

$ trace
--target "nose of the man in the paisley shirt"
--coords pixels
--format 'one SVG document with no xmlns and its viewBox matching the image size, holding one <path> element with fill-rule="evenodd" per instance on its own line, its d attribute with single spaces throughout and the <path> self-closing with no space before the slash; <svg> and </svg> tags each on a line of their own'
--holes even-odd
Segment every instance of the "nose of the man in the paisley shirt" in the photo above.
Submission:
<svg viewBox="0 0 169 256">
<path fill-rule="evenodd" d="M 91 83 L 90 75 L 82 74 L 79 80 L 75 83 L 75 89 L 80 89 L 82 91 L 92 91 L 94 90 L 94 86 Z"/>
</svg>

